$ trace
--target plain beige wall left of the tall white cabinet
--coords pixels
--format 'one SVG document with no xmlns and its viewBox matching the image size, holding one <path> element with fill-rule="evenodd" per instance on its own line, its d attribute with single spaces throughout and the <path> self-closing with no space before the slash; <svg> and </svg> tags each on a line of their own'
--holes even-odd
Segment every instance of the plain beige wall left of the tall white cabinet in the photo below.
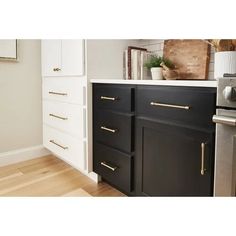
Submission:
<svg viewBox="0 0 236 236">
<path fill-rule="evenodd" d="M 42 144 L 40 40 L 18 43 L 19 62 L 0 61 L 0 153 Z"/>
</svg>

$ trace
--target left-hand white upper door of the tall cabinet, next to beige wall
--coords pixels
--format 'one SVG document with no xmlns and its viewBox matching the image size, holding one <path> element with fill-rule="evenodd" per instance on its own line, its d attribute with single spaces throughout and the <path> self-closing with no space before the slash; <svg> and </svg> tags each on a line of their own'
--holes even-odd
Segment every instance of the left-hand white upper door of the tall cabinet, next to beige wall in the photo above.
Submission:
<svg viewBox="0 0 236 236">
<path fill-rule="evenodd" d="M 61 40 L 42 40 L 42 75 L 43 76 L 58 76 L 62 73 L 61 60 Z"/>
</svg>

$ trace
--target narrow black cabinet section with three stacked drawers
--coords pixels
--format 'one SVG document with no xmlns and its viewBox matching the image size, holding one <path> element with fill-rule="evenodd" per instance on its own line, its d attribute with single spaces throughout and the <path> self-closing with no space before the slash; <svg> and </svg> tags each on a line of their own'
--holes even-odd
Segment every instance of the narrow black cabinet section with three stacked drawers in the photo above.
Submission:
<svg viewBox="0 0 236 236">
<path fill-rule="evenodd" d="M 93 171 L 134 195 L 134 86 L 93 85 Z"/>
</svg>

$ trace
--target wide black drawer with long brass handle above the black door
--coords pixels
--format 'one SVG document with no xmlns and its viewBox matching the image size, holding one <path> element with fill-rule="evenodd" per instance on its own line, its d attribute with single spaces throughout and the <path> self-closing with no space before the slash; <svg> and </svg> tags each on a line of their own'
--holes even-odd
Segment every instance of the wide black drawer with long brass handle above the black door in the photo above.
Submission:
<svg viewBox="0 0 236 236">
<path fill-rule="evenodd" d="M 157 120 L 213 128 L 215 88 L 137 86 L 137 114 Z"/>
</svg>

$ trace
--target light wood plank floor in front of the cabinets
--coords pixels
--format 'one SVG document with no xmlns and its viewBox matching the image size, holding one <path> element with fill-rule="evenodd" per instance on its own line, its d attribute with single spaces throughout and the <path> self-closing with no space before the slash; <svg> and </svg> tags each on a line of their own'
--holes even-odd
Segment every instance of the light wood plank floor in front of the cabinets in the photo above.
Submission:
<svg viewBox="0 0 236 236">
<path fill-rule="evenodd" d="M 0 196 L 125 196 L 55 156 L 0 167 Z"/>
</svg>

